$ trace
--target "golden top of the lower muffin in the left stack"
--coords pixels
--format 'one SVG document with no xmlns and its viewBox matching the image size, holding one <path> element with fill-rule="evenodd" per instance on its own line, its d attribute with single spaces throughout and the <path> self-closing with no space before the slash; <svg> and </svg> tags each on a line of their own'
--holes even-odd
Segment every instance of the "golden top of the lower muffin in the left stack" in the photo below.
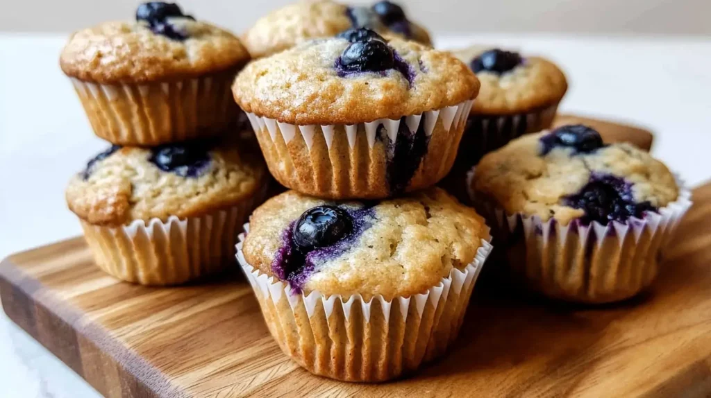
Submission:
<svg viewBox="0 0 711 398">
<path fill-rule="evenodd" d="M 262 188 L 259 157 L 249 143 L 192 141 L 152 149 L 112 146 L 87 163 L 67 187 L 71 211 L 92 224 L 185 218 L 218 211 Z"/>
</svg>

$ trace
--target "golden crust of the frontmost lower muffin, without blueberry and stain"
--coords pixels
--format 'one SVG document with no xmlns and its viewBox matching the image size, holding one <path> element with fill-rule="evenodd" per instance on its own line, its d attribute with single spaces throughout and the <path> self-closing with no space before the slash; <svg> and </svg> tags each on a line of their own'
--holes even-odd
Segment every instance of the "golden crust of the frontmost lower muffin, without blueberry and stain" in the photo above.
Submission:
<svg viewBox="0 0 711 398">
<path fill-rule="evenodd" d="M 333 204 L 294 191 L 269 199 L 250 220 L 244 255 L 252 266 L 268 275 L 282 233 L 314 206 Z M 341 206 L 362 207 L 358 202 Z M 442 189 L 432 188 L 400 199 L 379 201 L 346 253 L 316 266 L 304 293 L 382 294 L 386 299 L 410 296 L 439 283 L 453 268 L 463 270 L 474 260 L 488 227 L 474 209 L 459 204 Z"/>
</svg>

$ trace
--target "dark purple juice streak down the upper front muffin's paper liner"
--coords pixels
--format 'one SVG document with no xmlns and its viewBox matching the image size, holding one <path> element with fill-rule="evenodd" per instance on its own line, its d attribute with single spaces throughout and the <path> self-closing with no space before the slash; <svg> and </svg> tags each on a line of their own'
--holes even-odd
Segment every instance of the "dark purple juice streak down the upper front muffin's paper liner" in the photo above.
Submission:
<svg viewBox="0 0 711 398">
<path fill-rule="evenodd" d="M 385 179 L 390 193 L 393 195 L 402 194 L 410 184 L 410 179 L 419 169 L 424 155 L 427 155 L 429 148 L 429 137 L 424 133 L 424 121 L 419 123 L 417 131 L 412 133 L 405 121 L 407 118 L 400 118 L 400 127 L 397 131 L 397 138 L 393 145 L 390 137 L 387 136 L 385 127 L 378 126 L 378 140 L 385 143 L 385 153 L 387 154 L 387 167 Z"/>
</svg>

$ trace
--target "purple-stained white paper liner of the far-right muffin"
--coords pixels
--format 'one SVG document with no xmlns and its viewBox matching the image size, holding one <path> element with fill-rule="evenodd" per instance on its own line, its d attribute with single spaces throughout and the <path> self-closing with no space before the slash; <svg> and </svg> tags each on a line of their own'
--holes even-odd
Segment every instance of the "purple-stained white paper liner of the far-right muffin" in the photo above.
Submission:
<svg viewBox="0 0 711 398">
<path fill-rule="evenodd" d="M 506 214 L 472 192 L 471 200 L 489 223 L 493 236 L 506 248 L 509 277 L 553 299 L 599 304 L 628 299 L 648 287 L 658 274 L 660 253 L 692 202 L 691 192 L 675 175 L 678 198 L 643 218 L 606 226 L 593 221 L 567 226 L 555 219 Z"/>
</svg>

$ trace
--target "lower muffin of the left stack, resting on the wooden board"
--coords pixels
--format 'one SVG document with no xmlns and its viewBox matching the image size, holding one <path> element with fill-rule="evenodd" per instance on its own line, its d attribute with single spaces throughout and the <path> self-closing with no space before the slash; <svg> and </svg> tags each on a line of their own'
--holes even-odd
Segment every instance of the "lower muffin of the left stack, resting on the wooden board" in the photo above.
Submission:
<svg viewBox="0 0 711 398">
<path fill-rule="evenodd" d="M 180 284 L 234 262 L 267 170 L 239 143 L 112 146 L 66 192 L 96 264 L 128 282 Z"/>
</svg>

